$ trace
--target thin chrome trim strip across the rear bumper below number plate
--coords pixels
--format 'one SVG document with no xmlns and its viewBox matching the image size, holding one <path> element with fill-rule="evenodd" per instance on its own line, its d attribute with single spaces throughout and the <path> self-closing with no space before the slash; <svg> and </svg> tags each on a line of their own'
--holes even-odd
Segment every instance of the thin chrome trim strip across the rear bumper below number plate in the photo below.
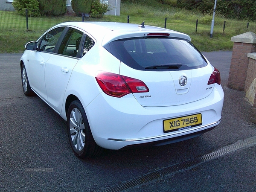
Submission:
<svg viewBox="0 0 256 192">
<path fill-rule="evenodd" d="M 169 136 L 172 136 L 172 135 L 186 133 L 186 132 L 194 131 L 194 130 L 197 130 L 197 129 L 202 129 L 202 128 L 205 128 L 205 127 L 217 124 L 219 122 L 221 122 L 221 119 L 219 119 L 218 121 L 212 122 L 210 124 L 203 125 L 203 126 L 196 127 L 196 128 L 192 128 L 192 129 L 187 129 L 187 130 L 184 130 L 184 131 L 179 132 L 179 133 L 171 133 L 171 134 L 160 135 L 160 136 L 156 136 L 156 137 L 145 137 L 145 138 L 139 138 L 139 139 L 113 139 L 113 138 L 108 138 L 108 140 L 111 140 L 111 141 L 127 141 L 127 142 L 131 142 L 131 141 L 132 142 L 134 142 L 134 141 L 146 141 L 146 140 L 158 139 L 158 138 L 163 138 L 163 137 L 169 137 Z M 201 131 L 203 131 L 203 130 L 201 130 Z"/>
</svg>

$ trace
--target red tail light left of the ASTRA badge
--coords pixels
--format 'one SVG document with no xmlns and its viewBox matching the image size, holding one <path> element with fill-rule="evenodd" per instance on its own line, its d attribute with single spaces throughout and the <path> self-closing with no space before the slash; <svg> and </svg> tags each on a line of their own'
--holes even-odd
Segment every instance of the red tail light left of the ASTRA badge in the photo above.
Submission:
<svg viewBox="0 0 256 192">
<path fill-rule="evenodd" d="M 129 93 L 145 93 L 149 89 L 143 81 L 115 73 L 100 71 L 96 74 L 96 81 L 104 93 L 122 97 Z"/>
</svg>

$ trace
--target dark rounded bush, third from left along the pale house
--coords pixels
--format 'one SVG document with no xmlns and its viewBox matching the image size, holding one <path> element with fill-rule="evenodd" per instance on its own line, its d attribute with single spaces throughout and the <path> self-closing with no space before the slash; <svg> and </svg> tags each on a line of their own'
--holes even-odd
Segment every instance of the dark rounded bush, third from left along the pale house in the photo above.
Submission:
<svg viewBox="0 0 256 192">
<path fill-rule="evenodd" d="M 71 6 L 77 16 L 81 16 L 82 13 L 88 14 L 91 10 L 93 0 L 72 0 Z"/>
</svg>

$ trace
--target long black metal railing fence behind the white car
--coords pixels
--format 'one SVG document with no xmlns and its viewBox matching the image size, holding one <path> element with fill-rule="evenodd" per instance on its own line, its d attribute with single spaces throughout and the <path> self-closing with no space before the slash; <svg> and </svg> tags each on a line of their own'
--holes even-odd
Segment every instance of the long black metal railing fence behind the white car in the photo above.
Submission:
<svg viewBox="0 0 256 192">
<path fill-rule="evenodd" d="M 167 29 L 172 29 L 187 34 L 210 32 L 211 20 L 207 22 L 201 19 L 179 19 L 179 18 L 147 18 L 147 17 L 133 17 L 133 16 L 113 16 L 104 15 L 101 18 L 92 18 L 88 15 L 82 14 L 77 17 L 76 15 L 64 15 L 60 17 L 28 17 L 18 15 L 17 12 L 11 12 L 4 9 L 0 9 L 0 30 L 31 30 L 31 31 L 46 31 L 50 27 L 63 22 L 68 21 L 111 21 L 121 23 L 135 23 L 141 24 L 145 21 L 145 25 L 158 26 Z M 244 30 L 256 31 L 256 24 L 248 23 L 246 21 L 241 22 L 215 22 L 214 32 L 224 33 L 225 31 L 235 30 L 234 33 L 238 33 Z"/>
</svg>

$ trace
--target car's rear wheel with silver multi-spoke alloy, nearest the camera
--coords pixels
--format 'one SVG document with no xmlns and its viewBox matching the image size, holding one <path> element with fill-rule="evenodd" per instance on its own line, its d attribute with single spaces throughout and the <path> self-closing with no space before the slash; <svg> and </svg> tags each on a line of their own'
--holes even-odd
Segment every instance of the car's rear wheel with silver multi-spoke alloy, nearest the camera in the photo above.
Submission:
<svg viewBox="0 0 256 192">
<path fill-rule="evenodd" d="M 79 100 L 73 101 L 68 108 L 67 133 L 77 157 L 88 158 L 102 152 L 102 148 L 93 139 L 86 113 Z"/>
</svg>

